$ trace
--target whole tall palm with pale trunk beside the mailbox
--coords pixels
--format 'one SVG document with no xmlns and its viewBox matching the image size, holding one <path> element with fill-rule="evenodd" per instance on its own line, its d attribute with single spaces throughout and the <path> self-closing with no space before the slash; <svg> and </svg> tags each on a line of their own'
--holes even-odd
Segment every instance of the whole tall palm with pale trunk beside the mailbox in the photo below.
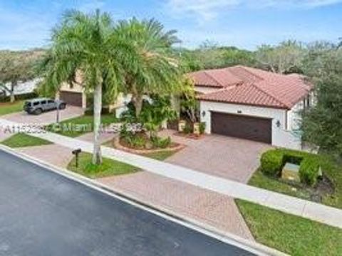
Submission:
<svg viewBox="0 0 342 256">
<path fill-rule="evenodd" d="M 100 164 L 99 133 L 102 109 L 102 91 L 116 95 L 122 79 L 118 56 L 128 49 L 113 33 L 113 21 L 109 14 L 83 14 L 67 11 L 61 23 L 54 28 L 51 49 L 44 65 L 44 84 L 50 90 L 58 90 L 63 82 L 70 82 L 81 73 L 83 85 L 93 92 L 93 164 Z"/>
</svg>

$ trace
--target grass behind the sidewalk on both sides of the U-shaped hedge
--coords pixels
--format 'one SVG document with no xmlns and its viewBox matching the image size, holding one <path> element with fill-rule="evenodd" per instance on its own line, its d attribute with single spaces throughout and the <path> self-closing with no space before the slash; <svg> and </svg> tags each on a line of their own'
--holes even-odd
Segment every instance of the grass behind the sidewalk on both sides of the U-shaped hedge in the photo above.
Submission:
<svg viewBox="0 0 342 256">
<path fill-rule="evenodd" d="M 335 187 L 334 193 L 323 196 L 321 203 L 336 208 L 342 208 L 342 166 L 336 164 L 329 156 L 323 155 L 318 157 L 320 157 L 323 173 L 332 181 Z M 251 186 L 257 186 L 259 188 L 284 193 L 289 196 L 296 196 L 306 200 L 310 200 L 310 195 L 312 193 L 311 188 L 306 188 L 305 186 L 291 186 L 279 179 L 262 174 L 259 169 L 253 174 L 248 183 Z M 296 188 L 296 191 L 294 188 Z"/>
</svg>

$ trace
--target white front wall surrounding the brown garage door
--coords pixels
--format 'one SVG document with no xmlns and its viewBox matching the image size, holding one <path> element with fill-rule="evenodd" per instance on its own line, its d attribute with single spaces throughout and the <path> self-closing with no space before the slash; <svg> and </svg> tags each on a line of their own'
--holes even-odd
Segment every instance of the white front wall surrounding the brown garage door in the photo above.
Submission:
<svg viewBox="0 0 342 256">
<path fill-rule="evenodd" d="M 205 101 L 200 102 L 200 109 L 201 122 L 206 123 L 207 134 L 211 133 L 211 111 L 264 117 L 272 119 L 272 145 L 301 149 L 300 137 L 293 131 L 286 129 L 286 110 Z M 205 112 L 204 116 L 203 112 Z M 280 122 L 279 127 L 276 125 L 278 121 Z"/>
</svg>

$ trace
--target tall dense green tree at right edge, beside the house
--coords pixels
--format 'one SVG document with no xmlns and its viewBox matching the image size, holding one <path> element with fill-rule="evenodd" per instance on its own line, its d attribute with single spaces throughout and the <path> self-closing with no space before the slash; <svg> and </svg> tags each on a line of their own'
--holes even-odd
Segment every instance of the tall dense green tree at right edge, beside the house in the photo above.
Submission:
<svg viewBox="0 0 342 256">
<path fill-rule="evenodd" d="M 342 156 L 342 49 L 322 44 L 311 49 L 308 73 L 316 69 L 316 105 L 303 112 L 301 129 L 306 142 Z"/>
</svg>

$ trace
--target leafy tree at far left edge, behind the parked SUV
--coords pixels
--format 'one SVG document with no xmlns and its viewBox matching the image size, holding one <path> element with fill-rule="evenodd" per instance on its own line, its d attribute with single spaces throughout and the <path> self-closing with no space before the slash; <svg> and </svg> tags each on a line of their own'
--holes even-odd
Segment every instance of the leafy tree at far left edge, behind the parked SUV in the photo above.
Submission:
<svg viewBox="0 0 342 256">
<path fill-rule="evenodd" d="M 43 50 L 0 52 L 0 89 L 15 101 L 14 90 L 19 82 L 26 82 L 37 77 L 35 66 L 41 59 Z"/>
</svg>

